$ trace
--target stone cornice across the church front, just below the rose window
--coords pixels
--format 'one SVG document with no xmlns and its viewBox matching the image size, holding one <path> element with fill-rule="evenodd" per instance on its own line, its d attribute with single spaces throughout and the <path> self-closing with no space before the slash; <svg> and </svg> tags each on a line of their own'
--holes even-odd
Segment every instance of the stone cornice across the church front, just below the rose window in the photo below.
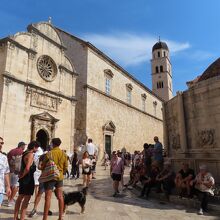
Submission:
<svg viewBox="0 0 220 220">
<path fill-rule="evenodd" d="M 75 96 L 72 96 L 72 97 L 71 96 L 66 96 L 66 95 L 64 95 L 64 94 L 62 94 L 60 92 L 54 92 L 54 91 L 45 89 L 43 87 L 37 86 L 37 85 L 35 85 L 34 83 L 32 83 L 30 81 L 29 82 L 28 81 L 26 81 L 26 82 L 22 81 L 22 80 L 16 78 L 15 76 L 11 75 L 8 72 L 4 72 L 2 75 L 3 75 L 3 77 L 5 77 L 7 79 L 10 79 L 11 81 L 17 82 L 19 84 L 22 84 L 24 86 L 29 86 L 30 88 L 39 89 L 41 91 L 47 92 L 49 94 L 52 94 L 52 95 L 55 95 L 55 96 L 58 96 L 58 97 L 61 97 L 61 98 L 64 98 L 64 99 L 67 99 L 67 100 L 72 101 L 72 102 L 76 102 L 77 101 Z"/>
</svg>

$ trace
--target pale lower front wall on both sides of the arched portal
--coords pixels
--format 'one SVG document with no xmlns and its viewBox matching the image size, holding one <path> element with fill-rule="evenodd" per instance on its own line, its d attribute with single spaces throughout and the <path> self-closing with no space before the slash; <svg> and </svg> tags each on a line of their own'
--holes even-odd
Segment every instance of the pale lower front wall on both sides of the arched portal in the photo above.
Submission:
<svg viewBox="0 0 220 220">
<path fill-rule="evenodd" d="M 27 94 L 26 86 L 11 81 L 7 86 L 4 85 L 4 96 L 0 112 L 0 134 L 4 137 L 4 151 L 8 152 L 12 147 L 17 146 L 18 142 L 31 140 L 31 115 L 36 115 L 45 110 L 30 106 L 31 94 Z M 58 106 L 57 112 L 49 113 L 59 119 L 56 123 L 55 136 L 62 140 L 62 148 L 70 151 L 72 149 L 72 129 L 75 114 L 71 102 L 63 99 Z M 47 128 L 46 128 L 47 129 Z"/>
</svg>

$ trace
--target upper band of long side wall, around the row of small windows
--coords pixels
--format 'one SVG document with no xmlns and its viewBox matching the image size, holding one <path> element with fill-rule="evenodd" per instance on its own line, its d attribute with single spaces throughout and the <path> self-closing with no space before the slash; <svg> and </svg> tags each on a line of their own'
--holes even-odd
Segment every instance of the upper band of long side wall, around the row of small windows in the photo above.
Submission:
<svg viewBox="0 0 220 220">
<path fill-rule="evenodd" d="M 142 109 L 142 95 L 146 95 L 146 113 L 162 120 L 162 101 L 152 95 L 148 90 L 138 84 L 116 66 L 112 65 L 107 59 L 98 55 L 91 49 L 88 51 L 88 80 L 87 84 L 105 93 L 105 72 L 109 69 L 113 73 L 111 80 L 111 96 L 127 103 L 126 85 L 132 85 L 131 105 L 139 110 Z M 155 106 L 154 103 L 157 103 Z"/>
</svg>

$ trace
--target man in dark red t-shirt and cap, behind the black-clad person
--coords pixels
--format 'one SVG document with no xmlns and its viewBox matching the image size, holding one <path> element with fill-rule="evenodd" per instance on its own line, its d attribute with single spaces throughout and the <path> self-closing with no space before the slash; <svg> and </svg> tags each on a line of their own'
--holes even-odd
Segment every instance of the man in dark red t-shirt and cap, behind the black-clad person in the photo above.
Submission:
<svg viewBox="0 0 220 220">
<path fill-rule="evenodd" d="M 18 192 L 18 173 L 14 171 L 14 166 L 15 166 L 15 158 L 19 158 L 22 156 L 24 149 L 25 149 L 25 142 L 21 141 L 18 143 L 18 146 L 12 150 L 9 151 L 7 154 L 8 157 L 8 163 L 9 163 L 9 168 L 10 168 L 10 184 L 11 184 L 11 195 L 8 197 L 8 207 L 11 207 L 15 204 L 14 197 L 16 193 Z"/>
</svg>

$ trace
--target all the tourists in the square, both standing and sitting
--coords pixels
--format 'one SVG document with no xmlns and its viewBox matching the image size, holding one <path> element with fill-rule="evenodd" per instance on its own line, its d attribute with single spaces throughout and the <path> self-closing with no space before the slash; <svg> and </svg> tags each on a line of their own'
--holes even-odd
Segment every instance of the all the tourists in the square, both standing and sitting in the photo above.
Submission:
<svg viewBox="0 0 220 220">
<path fill-rule="evenodd" d="M 199 167 L 197 175 L 187 162 L 175 173 L 172 164 L 164 157 L 164 150 L 158 137 L 154 137 L 155 144 L 143 145 L 142 151 L 129 152 L 113 151 L 111 155 L 104 152 L 103 165 L 105 170 L 110 165 L 110 175 L 113 179 L 114 197 L 119 195 L 119 185 L 123 189 L 132 189 L 138 183 L 142 184 L 140 197 L 148 198 L 154 189 L 157 193 L 165 193 L 169 200 L 174 189 L 179 197 L 192 198 L 197 195 L 201 201 L 199 214 L 207 211 L 209 195 L 213 195 L 214 178 L 208 172 L 205 165 Z M 50 211 L 52 192 L 55 191 L 59 207 L 59 220 L 63 219 L 63 179 L 80 177 L 80 165 L 82 166 L 83 186 L 89 187 L 91 180 L 95 179 L 97 147 L 92 139 L 83 150 L 82 157 L 77 151 L 68 156 L 60 149 L 61 140 L 53 138 L 46 151 L 40 147 L 37 141 L 28 144 L 19 142 L 18 146 L 8 154 L 3 153 L 3 138 L 0 137 L 0 207 L 4 197 L 7 197 L 7 205 L 14 206 L 14 220 L 24 220 L 31 196 L 35 192 L 34 208 L 29 217 L 37 214 L 38 205 L 43 193 L 45 193 L 43 220 Z M 26 149 L 26 150 L 25 150 Z M 68 172 L 68 163 L 71 164 L 71 172 Z M 130 166 L 130 179 L 125 184 L 123 175 L 126 166 Z M 18 197 L 15 201 L 15 196 Z M 18 218 L 20 214 L 20 218 Z"/>
</svg>

